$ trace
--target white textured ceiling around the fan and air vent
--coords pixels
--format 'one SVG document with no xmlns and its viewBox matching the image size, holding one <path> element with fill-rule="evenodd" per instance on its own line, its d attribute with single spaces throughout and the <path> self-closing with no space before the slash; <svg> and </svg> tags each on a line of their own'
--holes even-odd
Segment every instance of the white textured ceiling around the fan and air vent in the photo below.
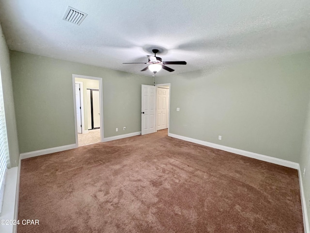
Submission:
<svg viewBox="0 0 310 233">
<path fill-rule="evenodd" d="M 88 14 L 62 20 L 67 6 Z M 152 46 L 182 73 L 235 61 L 310 51 L 310 0 L 0 0 L 11 50 L 131 73 Z"/>
</svg>

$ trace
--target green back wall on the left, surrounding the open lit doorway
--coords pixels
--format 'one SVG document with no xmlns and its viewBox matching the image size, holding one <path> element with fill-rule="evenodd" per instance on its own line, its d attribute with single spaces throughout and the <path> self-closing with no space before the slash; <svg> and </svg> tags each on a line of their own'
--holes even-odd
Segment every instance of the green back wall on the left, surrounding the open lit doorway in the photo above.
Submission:
<svg viewBox="0 0 310 233">
<path fill-rule="evenodd" d="M 141 84 L 153 77 L 17 51 L 10 58 L 20 153 L 75 143 L 72 74 L 103 79 L 104 137 L 141 130 Z"/>
</svg>

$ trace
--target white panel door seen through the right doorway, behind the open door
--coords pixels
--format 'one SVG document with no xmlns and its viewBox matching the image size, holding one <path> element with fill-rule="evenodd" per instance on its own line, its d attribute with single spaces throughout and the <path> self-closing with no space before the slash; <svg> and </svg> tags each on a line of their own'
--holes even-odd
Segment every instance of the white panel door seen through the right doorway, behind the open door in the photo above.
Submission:
<svg viewBox="0 0 310 233">
<path fill-rule="evenodd" d="M 156 90 L 156 130 L 168 128 L 169 89 L 157 87 Z"/>
</svg>

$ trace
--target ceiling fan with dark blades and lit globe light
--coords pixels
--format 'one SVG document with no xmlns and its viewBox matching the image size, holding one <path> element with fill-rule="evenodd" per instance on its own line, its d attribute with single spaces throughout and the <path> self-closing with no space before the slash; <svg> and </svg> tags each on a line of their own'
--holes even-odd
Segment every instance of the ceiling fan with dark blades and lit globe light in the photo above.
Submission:
<svg viewBox="0 0 310 233">
<path fill-rule="evenodd" d="M 154 52 L 154 56 L 149 56 L 148 62 L 134 62 L 134 63 L 123 63 L 123 64 L 149 64 L 149 66 L 145 67 L 144 69 L 141 69 L 140 71 L 145 71 L 147 69 L 151 70 L 154 74 L 157 73 L 161 68 L 172 72 L 174 69 L 171 69 L 170 67 L 166 67 L 165 65 L 186 65 L 185 61 L 175 61 L 175 62 L 163 62 L 160 57 L 156 57 L 156 53 L 159 52 L 159 50 L 152 50 Z"/>
</svg>

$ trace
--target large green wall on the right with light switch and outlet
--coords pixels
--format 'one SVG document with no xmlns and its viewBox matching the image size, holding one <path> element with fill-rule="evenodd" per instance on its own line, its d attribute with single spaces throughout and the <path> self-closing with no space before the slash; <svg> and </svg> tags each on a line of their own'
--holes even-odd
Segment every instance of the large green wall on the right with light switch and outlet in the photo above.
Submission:
<svg viewBox="0 0 310 233">
<path fill-rule="evenodd" d="M 171 83 L 170 133 L 298 163 L 309 77 L 310 53 L 302 53 L 155 83 Z"/>
</svg>

